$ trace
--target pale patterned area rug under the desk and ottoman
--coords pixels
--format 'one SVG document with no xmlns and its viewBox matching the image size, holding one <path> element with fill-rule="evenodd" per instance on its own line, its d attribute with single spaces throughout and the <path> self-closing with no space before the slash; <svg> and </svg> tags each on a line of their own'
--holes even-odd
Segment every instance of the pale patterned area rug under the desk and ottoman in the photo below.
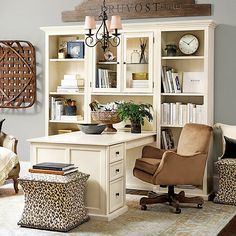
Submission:
<svg viewBox="0 0 236 236">
<path fill-rule="evenodd" d="M 172 213 L 165 204 L 149 206 L 141 211 L 141 196 L 127 195 L 129 210 L 111 222 L 90 220 L 68 233 L 52 232 L 17 225 L 24 206 L 22 191 L 14 194 L 12 186 L 0 188 L 1 236 L 61 236 L 61 235 L 160 235 L 216 236 L 236 214 L 236 206 L 205 202 L 203 209 L 182 207 L 181 214 Z"/>
</svg>

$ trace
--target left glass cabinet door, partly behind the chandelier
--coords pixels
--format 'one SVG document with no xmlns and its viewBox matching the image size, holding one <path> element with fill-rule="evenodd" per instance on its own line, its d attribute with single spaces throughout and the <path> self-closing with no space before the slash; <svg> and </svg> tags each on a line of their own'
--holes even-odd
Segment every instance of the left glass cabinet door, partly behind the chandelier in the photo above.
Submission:
<svg viewBox="0 0 236 236">
<path fill-rule="evenodd" d="M 112 41 L 112 39 L 110 40 Z M 120 52 L 120 45 L 118 47 L 110 46 L 105 52 L 100 44 L 94 48 L 93 92 L 120 92 Z"/>
</svg>

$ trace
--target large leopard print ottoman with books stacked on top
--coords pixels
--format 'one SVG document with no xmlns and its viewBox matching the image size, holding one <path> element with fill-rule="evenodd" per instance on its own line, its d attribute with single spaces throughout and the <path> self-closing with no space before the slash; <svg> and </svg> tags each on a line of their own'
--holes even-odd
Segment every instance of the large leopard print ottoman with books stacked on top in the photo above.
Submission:
<svg viewBox="0 0 236 236">
<path fill-rule="evenodd" d="M 25 206 L 18 225 L 65 232 L 88 221 L 84 205 L 88 177 L 74 172 L 65 176 L 29 174 L 20 178 Z"/>
</svg>

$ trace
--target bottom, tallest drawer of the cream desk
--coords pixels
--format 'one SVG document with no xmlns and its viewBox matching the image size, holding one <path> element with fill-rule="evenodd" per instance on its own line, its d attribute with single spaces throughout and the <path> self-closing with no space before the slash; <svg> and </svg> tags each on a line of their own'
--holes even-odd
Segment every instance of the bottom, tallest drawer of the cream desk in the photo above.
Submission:
<svg viewBox="0 0 236 236">
<path fill-rule="evenodd" d="M 110 213 L 124 205 L 123 177 L 110 183 Z"/>
</svg>

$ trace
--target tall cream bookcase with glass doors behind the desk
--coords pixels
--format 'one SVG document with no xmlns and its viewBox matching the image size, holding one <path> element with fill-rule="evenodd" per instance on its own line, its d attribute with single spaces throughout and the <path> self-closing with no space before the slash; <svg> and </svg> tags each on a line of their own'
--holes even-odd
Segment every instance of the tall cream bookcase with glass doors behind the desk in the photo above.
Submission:
<svg viewBox="0 0 236 236">
<path fill-rule="evenodd" d="M 163 103 L 196 104 L 203 107 L 203 123 L 213 124 L 213 91 L 214 91 L 214 28 L 211 20 L 150 22 L 124 24 L 121 43 L 117 48 L 110 48 L 115 59 L 106 61 L 104 52 L 98 44 L 94 48 L 85 47 L 85 57 L 82 59 L 57 59 L 58 41 L 61 37 L 76 37 L 84 39 L 83 26 L 42 27 L 45 32 L 45 134 L 57 134 L 59 129 L 78 130 L 77 123 L 81 121 L 50 120 L 50 97 L 64 97 L 76 100 L 78 115 L 83 116 L 83 122 L 90 122 L 89 103 L 98 100 L 108 103 L 117 100 L 148 102 L 153 105 L 154 120 L 146 122 L 142 130 L 157 132 L 157 146 L 161 146 L 161 131 L 171 129 L 175 145 L 178 144 L 183 124 L 163 124 Z M 177 52 L 176 56 L 167 56 L 167 44 L 178 45 L 184 34 L 194 34 L 200 46 L 194 55 L 186 56 Z M 137 63 L 131 60 L 134 50 L 140 50 L 140 41 L 146 42 L 146 61 Z M 183 72 L 202 72 L 204 89 L 201 93 L 164 93 L 161 89 L 161 70 L 163 66 L 174 68 L 179 74 Z M 99 72 L 100 71 L 100 72 Z M 105 72 L 104 72 L 105 71 Z M 111 78 L 101 82 L 99 73 L 110 73 Z M 134 73 L 146 74 L 147 82 L 133 82 Z M 57 93 L 65 74 L 79 74 L 84 78 L 84 89 L 78 93 Z M 101 84 L 103 83 L 103 86 Z M 105 84 L 105 85 L 104 85 Z M 123 128 L 124 124 L 117 125 Z M 134 160 L 133 160 L 134 161 Z M 209 158 L 210 161 L 210 158 Z M 132 165 L 130 165 L 132 166 Z M 190 190 L 207 196 L 211 186 L 212 165 L 206 168 L 203 189 Z M 149 188 L 136 178 L 127 175 L 127 187 Z M 159 189 L 161 191 L 161 189 Z"/>
</svg>

